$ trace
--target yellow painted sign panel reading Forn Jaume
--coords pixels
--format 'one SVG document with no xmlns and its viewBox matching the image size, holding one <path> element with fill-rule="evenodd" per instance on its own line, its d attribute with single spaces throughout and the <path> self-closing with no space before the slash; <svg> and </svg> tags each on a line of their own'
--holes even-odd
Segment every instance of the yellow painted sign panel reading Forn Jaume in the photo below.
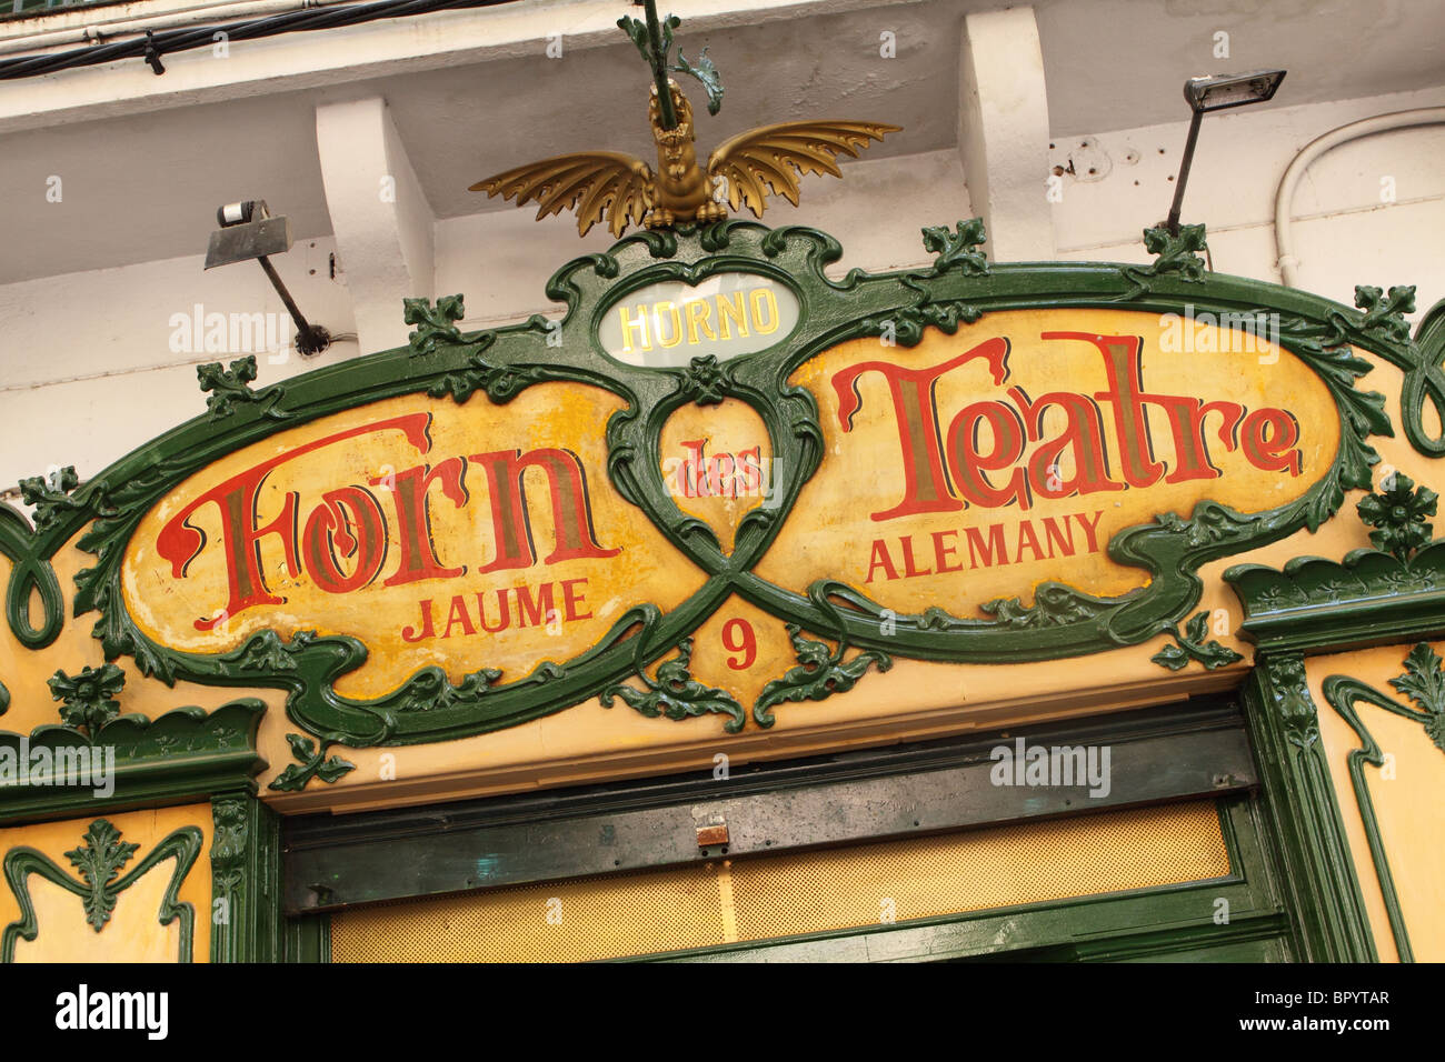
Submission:
<svg viewBox="0 0 1445 1062">
<path fill-rule="evenodd" d="M 428 665 L 514 681 L 566 660 L 631 605 L 666 611 L 704 579 L 607 480 L 604 428 L 621 407 L 555 383 L 506 406 L 410 396 L 280 432 L 147 513 L 123 562 L 126 607 L 198 653 L 266 627 L 351 634 L 370 652 L 337 682 L 350 696 Z"/>
</svg>

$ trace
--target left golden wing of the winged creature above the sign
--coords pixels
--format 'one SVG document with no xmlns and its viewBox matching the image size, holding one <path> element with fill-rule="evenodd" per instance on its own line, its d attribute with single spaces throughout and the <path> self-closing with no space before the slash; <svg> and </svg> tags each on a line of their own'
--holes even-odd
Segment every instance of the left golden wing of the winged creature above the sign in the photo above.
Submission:
<svg viewBox="0 0 1445 1062">
<path fill-rule="evenodd" d="M 582 236 L 607 211 L 613 236 L 621 236 L 647 212 L 652 188 L 652 170 L 642 159 L 620 152 L 582 152 L 509 169 L 478 181 L 470 191 L 516 199 L 519 207 L 536 201 L 538 220 L 575 210 L 577 231 Z"/>
</svg>

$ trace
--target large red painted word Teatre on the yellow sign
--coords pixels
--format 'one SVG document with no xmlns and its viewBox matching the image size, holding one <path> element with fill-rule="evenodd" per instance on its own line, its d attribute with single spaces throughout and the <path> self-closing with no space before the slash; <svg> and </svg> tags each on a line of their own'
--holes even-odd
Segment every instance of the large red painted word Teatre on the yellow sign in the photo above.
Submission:
<svg viewBox="0 0 1445 1062">
<path fill-rule="evenodd" d="M 853 431 L 853 418 L 863 406 L 858 377 L 880 373 L 889 381 L 905 493 L 892 509 L 873 513 L 874 520 L 951 513 L 972 504 L 996 509 L 1017 503 L 1029 509 L 1035 497 L 1064 498 L 1152 487 L 1160 480 L 1214 480 L 1221 472 L 1209 459 L 1205 439 L 1205 420 L 1211 413 L 1220 418 L 1217 435 L 1225 451 L 1240 449 L 1251 465 L 1272 472 L 1299 475 L 1303 470 L 1296 448 L 1299 422 L 1293 413 L 1274 407 L 1248 412 L 1237 402 L 1204 402 L 1185 394 L 1150 394 L 1143 381 L 1143 341 L 1136 335 L 1043 332 L 1040 338 L 1092 344 L 1104 360 L 1108 389 L 1092 394 L 1048 392 L 1030 399 L 1022 387 L 1013 386 L 1007 390 L 1009 402 L 972 402 L 954 416 L 946 431 L 941 431 L 935 400 L 938 380 L 959 366 L 983 360 L 994 386 L 1003 387 L 1010 371 L 1007 338 L 987 340 L 931 368 L 864 361 L 834 374 L 838 422 L 845 432 Z M 1111 433 L 1104 429 L 1101 402 L 1111 409 Z M 1155 457 L 1149 406 L 1162 409 L 1169 420 L 1176 467 L 1168 475 L 1169 465 Z M 1045 439 L 1043 418 L 1051 407 L 1064 412 L 1066 426 Z M 990 438 L 987 446 L 983 429 Z M 1030 444 L 1040 445 L 1025 458 Z M 1074 470 L 1069 478 L 1059 475 L 1065 457 L 1071 458 Z M 1120 478 L 1111 475 L 1116 467 Z M 1009 478 L 1001 485 L 990 478 L 990 472 L 1006 471 Z"/>
</svg>

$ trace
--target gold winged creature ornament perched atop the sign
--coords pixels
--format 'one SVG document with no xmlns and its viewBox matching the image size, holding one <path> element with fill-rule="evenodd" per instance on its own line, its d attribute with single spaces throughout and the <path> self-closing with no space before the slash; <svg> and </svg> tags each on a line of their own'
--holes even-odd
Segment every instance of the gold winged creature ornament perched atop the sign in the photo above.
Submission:
<svg viewBox="0 0 1445 1062">
<path fill-rule="evenodd" d="M 577 211 L 582 236 L 605 214 L 613 236 L 627 225 L 665 228 L 686 223 L 720 221 L 728 208 L 747 207 L 763 217 L 770 195 L 798 205 L 799 178 L 808 173 L 842 176 L 838 156 L 857 157 L 870 140 L 897 133 L 880 121 L 783 121 L 760 126 L 718 144 L 708 168 L 698 165 L 692 107 L 668 79 L 676 124 L 668 129 L 652 88 L 647 118 L 657 142 L 657 172 L 646 162 L 620 152 L 562 155 L 478 181 L 474 192 L 538 204 L 538 218 Z M 727 208 L 722 202 L 727 202 Z"/>
</svg>

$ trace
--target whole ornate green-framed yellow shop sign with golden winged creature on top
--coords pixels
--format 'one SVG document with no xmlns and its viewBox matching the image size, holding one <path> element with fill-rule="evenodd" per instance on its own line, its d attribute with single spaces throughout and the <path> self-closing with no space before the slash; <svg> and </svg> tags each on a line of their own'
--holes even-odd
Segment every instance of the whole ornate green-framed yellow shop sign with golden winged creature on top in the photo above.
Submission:
<svg viewBox="0 0 1445 1062">
<path fill-rule="evenodd" d="M 629 32 L 659 59 L 656 33 Z M 676 176 L 698 168 L 691 111 L 653 66 Z M 708 172 L 731 173 L 734 207 L 795 198 L 892 129 L 767 127 Z M 1410 288 L 1348 308 L 1209 273 L 1198 225 L 1149 230 L 1149 266 L 993 264 L 977 220 L 923 230 L 928 267 L 831 279 L 831 237 L 728 220 L 727 191 L 624 186 L 598 157 L 481 185 L 577 207 L 584 230 L 608 210 L 614 231 L 646 224 L 552 277 L 561 321 L 468 332 L 460 295 L 407 301 L 405 348 L 262 389 L 254 358 L 202 366 L 201 418 L 78 490 L 27 480 L 33 529 L 0 506 L 19 643 L 72 613 L 160 682 L 285 689 L 303 733 L 282 789 L 344 773 L 335 743 L 592 698 L 737 733 L 894 657 L 1163 636 L 1168 668 L 1230 663 L 1191 620 L 1202 565 L 1328 520 L 1371 485 L 1373 435 L 1445 454 L 1445 328 L 1436 309 L 1412 340 Z M 1403 370 L 1397 425 L 1367 355 Z M 51 561 L 71 542 L 90 561 L 66 595 Z M 757 696 L 689 672 L 728 601 L 788 624 L 798 666 Z M 87 712 L 91 733 L 137 718 Z"/>
</svg>

